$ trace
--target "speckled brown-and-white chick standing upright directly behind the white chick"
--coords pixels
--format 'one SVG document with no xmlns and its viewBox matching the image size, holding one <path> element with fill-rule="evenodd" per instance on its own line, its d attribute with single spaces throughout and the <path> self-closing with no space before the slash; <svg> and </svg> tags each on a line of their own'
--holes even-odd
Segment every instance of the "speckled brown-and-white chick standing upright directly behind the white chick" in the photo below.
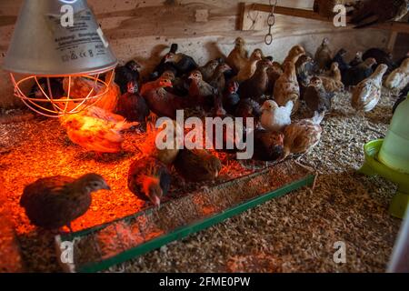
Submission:
<svg viewBox="0 0 409 291">
<path fill-rule="evenodd" d="M 297 112 L 300 106 L 300 86 L 298 85 L 293 62 L 284 64 L 284 73 L 275 82 L 273 95 L 279 106 L 285 106 L 288 101 L 292 100 L 294 103 L 293 114 Z"/>
</svg>

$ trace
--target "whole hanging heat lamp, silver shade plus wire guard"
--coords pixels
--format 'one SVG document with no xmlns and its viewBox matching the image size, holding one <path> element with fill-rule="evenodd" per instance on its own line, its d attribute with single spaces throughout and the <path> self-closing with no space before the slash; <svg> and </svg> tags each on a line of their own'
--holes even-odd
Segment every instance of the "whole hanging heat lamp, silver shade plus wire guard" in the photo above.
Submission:
<svg viewBox="0 0 409 291">
<path fill-rule="evenodd" d="M 4 69 L 15 96 L 30 109 L 60 117 L 95 105 L 108 91 L 116 65 L 86 0 L 24 0 Z M 73 89 L 75 79 L 81 79 L 82 90 Z M 64 94 L 53 94 L 55 84 Z"/>
</svg>

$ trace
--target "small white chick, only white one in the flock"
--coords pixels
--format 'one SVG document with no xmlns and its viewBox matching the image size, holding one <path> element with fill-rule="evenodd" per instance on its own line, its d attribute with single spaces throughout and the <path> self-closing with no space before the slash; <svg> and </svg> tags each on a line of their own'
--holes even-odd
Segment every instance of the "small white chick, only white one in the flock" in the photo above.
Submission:
<svg viewBox="0 0 409 291">
<path fill-rule="evenodd" d="M 279 107 L 275 101 L 267 100 L 261 107 L 261 125 L 268 131 L 281 132 L 286 125 L 291 124 L 291 113 L 294 103 L 288 101 L 285 106 Z"/>
</svg>

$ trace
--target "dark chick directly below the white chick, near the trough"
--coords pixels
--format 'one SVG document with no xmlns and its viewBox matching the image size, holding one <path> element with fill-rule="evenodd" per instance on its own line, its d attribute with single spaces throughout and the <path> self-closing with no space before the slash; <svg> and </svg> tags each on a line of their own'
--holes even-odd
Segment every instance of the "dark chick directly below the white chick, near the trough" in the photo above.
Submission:
<svg viewBox="0 0 409 291">
<path fill-rule="evenodd" d="M 284 135 L 264 129 L 254 131 L 254 159 L 276 161 L 284 156 Z"/>
</svg>

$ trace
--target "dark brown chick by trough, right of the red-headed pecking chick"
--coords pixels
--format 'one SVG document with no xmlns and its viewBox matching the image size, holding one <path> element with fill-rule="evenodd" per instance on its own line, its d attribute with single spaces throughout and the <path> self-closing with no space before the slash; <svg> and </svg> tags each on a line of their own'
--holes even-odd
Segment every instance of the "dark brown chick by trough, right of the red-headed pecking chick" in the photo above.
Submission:
<svg viewBox="0 0 409 291">
<path fill-rule="evenodd" d="M 217 178 L 222 163 L 204 149 L 182 149 L 176 157 L 175 169 L 188 181 L 203 182 Z"/>
</svg>

